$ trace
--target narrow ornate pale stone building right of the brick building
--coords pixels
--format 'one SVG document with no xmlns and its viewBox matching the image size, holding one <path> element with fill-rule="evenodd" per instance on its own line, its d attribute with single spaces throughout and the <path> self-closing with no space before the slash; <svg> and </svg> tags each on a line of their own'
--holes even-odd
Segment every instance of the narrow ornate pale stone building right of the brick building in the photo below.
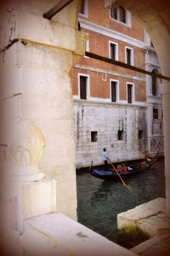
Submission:
<svg viewBox="0 0 170 256">
<path fill-rule="evenodd" d="M 156 49 L 151 44 L 150 36 L 144 32 L 144 53 L 145 69 L 150 72 L 161 74 L 161 67 L 156 55 Z M 159 150 L 163 154 L 163 112 L 161 100 L 161 79 L 156 78 L 156 95 L 152 91 L 152 77 L 146 75 L 146 93 L 147 93 L 147 150 L 148 154 L 154 155 Z M 156 116 L 154 111 L 157 112 Z"/>
</svg>

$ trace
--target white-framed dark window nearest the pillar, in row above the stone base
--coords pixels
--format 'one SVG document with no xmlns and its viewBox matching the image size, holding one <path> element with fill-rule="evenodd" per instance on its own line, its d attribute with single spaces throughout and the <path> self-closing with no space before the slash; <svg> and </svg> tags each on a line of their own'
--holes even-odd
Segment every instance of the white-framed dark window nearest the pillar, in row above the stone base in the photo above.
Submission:
<svg viewBox="0 0 170 256">
<path fill-rule="evenodd" d="M 78 95 L 80 99 L 87 100 L 89 96 L 89 76 L 78 74 Z"/>
</svg>

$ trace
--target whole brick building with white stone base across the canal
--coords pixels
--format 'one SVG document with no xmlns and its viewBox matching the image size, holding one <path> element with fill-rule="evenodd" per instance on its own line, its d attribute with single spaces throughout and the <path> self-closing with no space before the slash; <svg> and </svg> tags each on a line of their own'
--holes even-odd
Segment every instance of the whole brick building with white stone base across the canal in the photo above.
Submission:
<svg viewBox="0 0 170 256">
<path fill-rule="evenodd" d="M 147 57 L 150 60 L 147 55 L 150 38 L 126 9 L 107 9 L 105 1 L 84 0 L 79 24 L 81 31 L 88 34 L 87 51 L 150 69 L 146 63 Z M 153 60 L 149 62 L 154 66 Z M 156 72 L 160 73 L 158 61 L 156 66 Z M 94 165 L 102 164 L 104 147 L 113 162 L 156 153 L 156 147 L 150 149 L 150 137 L 154 136 L 150 115 L 157 100 L 161 111 L 161 94 L 157 92 L 158 99 L 147 89 L 150 78 L 87 56 L 71 70 L 77 168 L 89 166 L 92 160 Z M 160 81 L 156 83 L 158 88 Z"/>
</svg>

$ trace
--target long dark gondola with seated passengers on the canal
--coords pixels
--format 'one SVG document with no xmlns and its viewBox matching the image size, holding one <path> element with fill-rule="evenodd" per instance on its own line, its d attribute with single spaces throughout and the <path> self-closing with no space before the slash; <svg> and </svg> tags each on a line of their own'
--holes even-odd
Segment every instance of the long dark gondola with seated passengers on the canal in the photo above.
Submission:
<svg viewBox="0 0 170 256">
<path fill-rule="evenodd" d="M 101 179 L 115 179 L 118 178 L 118 176 L 129 177 L 135 173 L 144 172 L 145 170 L 150 169 L 150 167 L 156 163 L 157 158 L 158 153 L 156 154 L 156 157 L 146 158 L 144 160 L 136 160 L 134 162 L 126 164 L 126 166 L 124 165 L 124 168 L 123 163 L 114 165 L 115 168 L 110 167 L 108 171 L 94 167 L 92 164 L 89 168 L 89 171 L 92 176 L 99 177 Z"/>
</svg>

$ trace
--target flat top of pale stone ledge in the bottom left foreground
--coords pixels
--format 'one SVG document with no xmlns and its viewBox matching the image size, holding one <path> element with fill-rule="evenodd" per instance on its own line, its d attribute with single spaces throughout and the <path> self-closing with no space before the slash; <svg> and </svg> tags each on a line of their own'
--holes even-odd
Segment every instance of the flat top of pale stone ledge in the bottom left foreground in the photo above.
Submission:
<svg viewBox="0 0 170 256">
<path fill-rule="evenodd" d="M 24 230 L 19 243 L 30 256 L 135 255 L 60 213 L 28 219 Z"/>
</svg>

